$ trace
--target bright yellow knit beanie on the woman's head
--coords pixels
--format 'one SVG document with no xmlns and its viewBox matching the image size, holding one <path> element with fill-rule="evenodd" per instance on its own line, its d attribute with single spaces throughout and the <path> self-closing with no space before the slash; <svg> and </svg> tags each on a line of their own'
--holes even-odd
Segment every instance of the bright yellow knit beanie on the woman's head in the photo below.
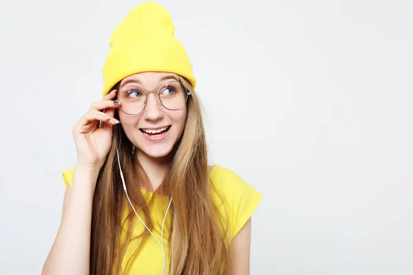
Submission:
<svg viewBox="0 0 413 275">
<path fill-rule="evenodd" d="M 140 72 L 171 72 L 195 88 L 187 51 L 176 39 L 169 12 L 153 2 L 134 8 L 116 27 L 103 67 L 103 96 L 116 83 Z"/>
</svg>

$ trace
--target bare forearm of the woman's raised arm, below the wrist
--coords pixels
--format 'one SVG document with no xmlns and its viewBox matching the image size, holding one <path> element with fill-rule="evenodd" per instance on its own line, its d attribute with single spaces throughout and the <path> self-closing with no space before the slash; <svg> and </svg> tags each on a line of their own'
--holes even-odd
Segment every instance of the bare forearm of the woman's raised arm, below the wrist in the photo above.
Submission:
<svg viewBox="0 0 413 275">
<path fill-rule="evenodd" d="M 92 202 L 98 171 L 75 168 L 65 199 L 59 232 L 47 256 L 43 275 L 89 274 Z"/>
</svg>

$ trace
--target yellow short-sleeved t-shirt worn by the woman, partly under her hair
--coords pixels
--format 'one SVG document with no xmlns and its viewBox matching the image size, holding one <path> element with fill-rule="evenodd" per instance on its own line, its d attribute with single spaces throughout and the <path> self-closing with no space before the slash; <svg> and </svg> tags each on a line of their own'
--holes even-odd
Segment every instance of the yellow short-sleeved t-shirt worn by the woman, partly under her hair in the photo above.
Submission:
<svg viewBox="0 0 413 275">
<path fill-rule="evenodd" d="M 72 186 L 73 170 L 74 168 L 71 168 L 63 172 L 65 185 L 68 183 L 70 184 L 70 186 Z M 224 214 L 224 217 L 226 217 L 226 219 L 229 221 L 230 238 L 232 237 L 233 239 L 233 237 L 238 232 L 240 232 L 241 228 L 244 226 L 246 221 L 248 221 L 249 217 L 251 217 L 251 214 L 253 214 L 255 208 L 257 208 L 262 199 L 262 195 L 251 185 L 247 184 L 232 170 L 223 168 L 221 166 L 213 166 L 211 172 L 209 173 L 209 178 L 211 179 L 211 183 L 215 186 L 215 190 L 217 190 L 218 195 L 220 195 L 219 197 L 215 192 L 211 192 L 213 201 L 217 203 L 222 214 Z M 142 193 L 147 202 L 153 195 L 152 192 L 145 192 L 145 190 L 142 190 Z M 222 198 L 224 206 L 221 205 L 222 201 L 220 200 L 220 198 Z M 159 241 L 162 221 L 165 216 L 165 211 L 168 203 L 169 198 L 158 196 L 154 199 L 151 207 L 149 208 L 151 220 L 153 223 L 152 232 Z M 139 212 L 138 210 L 136 211 L 142 219 L 142 217 L 144 217 L 142 212 Z M 126 217 L 125 214 L 123 217 Z M 169 243 L 167 241 L 169 232 L 167 232 L 166 228 L 167 225 L 171 223 L 170 217 L 171 215 L 170 213 L 168 213 L 163 232 L 167 267 L 169 266 Z M 127 223 L 123 225 L 123 228 L 125 230 L 127 229 L 127 225 Z M 132 233 L 132 237 L 138 236 L 143 232 L 144 229 L 144 225 L 142 225 L 142 223 L 135 216 L 134 231 Z M 123 232 L 125 232 L 125 230 Z M 121 234 L 120 242 L 123 243 L 124 240 L 125 234 Z M 127 259 L 129 259 L 129 257 L 133 254 L 134 250 L 139 245 L 139 242 L 140 238 L 135 239 L 134 241 L 131 241 L 131 243 L 129 243 L 121 264 L 122 270 L 124 270 Z M 131 263 L 129 272 L 131 274 L 162 274 L 162 267 L 163 257 L 160 245 L 153 238 L 153 236 L 149 236 L 149 238 L 145 242 L 145 245 L 140 251 L 140 254 L 136 257 L 133 263 Z"/>
</svg>

